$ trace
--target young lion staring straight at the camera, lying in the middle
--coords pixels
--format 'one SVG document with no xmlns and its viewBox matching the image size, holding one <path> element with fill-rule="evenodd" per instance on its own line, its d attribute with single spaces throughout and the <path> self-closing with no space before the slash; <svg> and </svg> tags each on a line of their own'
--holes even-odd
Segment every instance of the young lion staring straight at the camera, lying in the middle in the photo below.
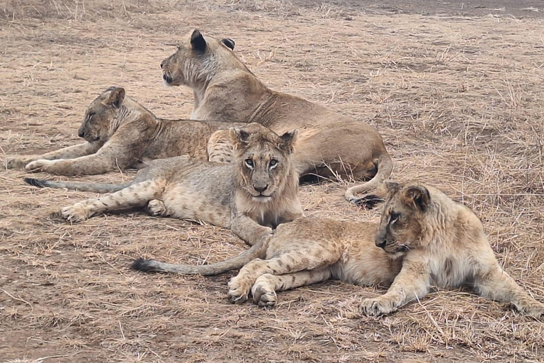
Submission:
<svg viewBox="0 0 544 363">
<path fill-rule="evenodd" d="M 213 164 L 186 155 L 154 160 L 128 184 L 25 179 L 34 186 L 115 193 L 62 208 L 69 222 L 104 211 L 147 205 L 154 216 L 198 220 L 229 228 L 253 245 L 280 223 L 303 216 L 291 155 L 297 130 L 278 136 L 263 128 L 230 129 L 234 162 Z"/>
</svg>

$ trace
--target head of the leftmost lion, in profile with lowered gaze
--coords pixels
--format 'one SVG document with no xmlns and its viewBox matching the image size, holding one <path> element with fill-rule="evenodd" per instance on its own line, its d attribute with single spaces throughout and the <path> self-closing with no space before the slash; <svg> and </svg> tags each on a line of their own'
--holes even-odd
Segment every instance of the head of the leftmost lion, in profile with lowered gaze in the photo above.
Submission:
<svg viewBox="0 0 544 363">
<path fill-rule="evenodd" d="M 98 96 L 85 111 L 77 135 L 89 143 L 108 141 L 113 133 L 114 120 L 125 99 L 125 89 L 110 87 Z"/>
</svg>

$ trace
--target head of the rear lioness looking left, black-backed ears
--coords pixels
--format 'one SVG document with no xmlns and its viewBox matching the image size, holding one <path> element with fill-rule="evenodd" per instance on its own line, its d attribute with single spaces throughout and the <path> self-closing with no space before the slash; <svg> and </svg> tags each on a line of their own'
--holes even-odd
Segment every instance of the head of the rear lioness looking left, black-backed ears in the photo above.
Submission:
<svg viewBox="0 0 544 363">
<path fill-rule="evenodd" d="M 237 60 L 232 50 L 234 40 L 205 40 L 198 30 L 193 30 L 189 40 L 161 62 L 162 79 L 167 86 L 198 86 L 206 82 L 222 62 Z"/>
</svg>

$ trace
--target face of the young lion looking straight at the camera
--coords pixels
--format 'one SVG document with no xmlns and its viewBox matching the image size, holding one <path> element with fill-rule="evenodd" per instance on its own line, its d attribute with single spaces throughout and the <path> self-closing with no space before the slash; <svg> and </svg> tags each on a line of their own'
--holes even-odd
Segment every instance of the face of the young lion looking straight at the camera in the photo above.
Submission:
<svg viewBox="0 0 544 363">
<path fill-rule="evenodd" d="M 290 173 L 297 130 L 278 136 L 264 127 L 254 132 L 231 128 L 230 135 L 242 190 L 259 203 L 281 194 Z"/>
</svg>

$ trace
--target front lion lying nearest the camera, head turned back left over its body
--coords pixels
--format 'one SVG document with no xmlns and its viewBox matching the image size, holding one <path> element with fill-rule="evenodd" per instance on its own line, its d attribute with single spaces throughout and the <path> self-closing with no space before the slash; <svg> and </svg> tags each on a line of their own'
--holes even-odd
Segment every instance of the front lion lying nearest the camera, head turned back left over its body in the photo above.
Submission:
<svg viewBox="0 0 544 363">
<path fill-rule="evenodd" d="M 242 303 L 251 292 L 259 306 L 276 304 L 276 291 L 340 279 L 390 284 L 386 294 L 362 301 L 361 311 L 370 315 L 392 313 L 423 298 L 431 286 L 462 284 L 522 313 L 543 315 L 544 304 L 500 267 L 482 223 L 469 208 L 431 186 L 385 184 L 389 195 L 380 225 L 299 218 L 225 262 L 188 266 L 137 259 L 132 268 L 210 275 L 243 266 L 229 282 L 229 299 Z"/>
</svg>

